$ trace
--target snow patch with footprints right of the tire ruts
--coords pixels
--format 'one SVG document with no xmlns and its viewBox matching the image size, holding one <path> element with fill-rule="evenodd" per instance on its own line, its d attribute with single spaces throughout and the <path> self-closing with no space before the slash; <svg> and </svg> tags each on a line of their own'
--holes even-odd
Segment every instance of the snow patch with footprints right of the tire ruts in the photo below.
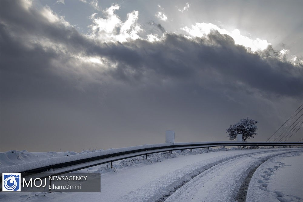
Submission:
<svg viewBox="0 0 303 202">
<path fill-rule="evenodd" d="M 302 168 L 297 152 L 269 159 L 252 176 L 246 201 L 303 201 Z"/>
</svg>

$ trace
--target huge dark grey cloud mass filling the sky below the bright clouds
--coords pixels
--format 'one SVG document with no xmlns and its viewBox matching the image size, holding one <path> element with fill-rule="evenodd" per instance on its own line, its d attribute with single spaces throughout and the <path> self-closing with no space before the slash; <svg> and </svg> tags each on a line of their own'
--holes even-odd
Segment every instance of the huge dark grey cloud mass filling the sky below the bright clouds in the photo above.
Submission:
<svg viewBox="0 0 303 202">
<path fill-rule="evenodd" d="M 302 101 L 302 66 L 217 31 L 102 43 L 1 1 L 0 34 L 2 151 L 159 143 L 170 129 L 176 141 L 227 140 L 225 128 L 247 116 L 264 141 Z"/>
</svg>

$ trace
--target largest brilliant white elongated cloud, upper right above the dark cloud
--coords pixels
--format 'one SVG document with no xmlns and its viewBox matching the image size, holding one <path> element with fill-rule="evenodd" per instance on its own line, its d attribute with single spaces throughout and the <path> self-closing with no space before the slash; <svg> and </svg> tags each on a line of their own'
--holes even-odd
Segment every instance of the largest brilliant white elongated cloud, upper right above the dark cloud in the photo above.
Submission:
<svg viewBox="0 0 303 202">
<path fill-rule="evenodd" d="M 247 48 L 250 48 L 251 51 L 264 50 L 265 48 L 267 48 L 268 45 L 270 45 L 270 43 L 268 43 L 268 41 L 266 41 L 265 39 L 261 40 L 257 38 L 253 40 L 251 38 L 248 38 L 247 36 L 241 35 L 240 30 L 238 29 L 229 32 L 226 29 L 221 29 L 217 25 L 211 23 L 207 24 L 197 22 L 195 25 L 191 25 L 191 28 L 184 27 L 181 29 L 186 31 L 193 37 L 205 37 L 210 33 L 211 30 L 218 30 L 220 34 L 226 34 L 231 36 L 235 40 L 235 44 L 243 45 Z"/>
</svg>

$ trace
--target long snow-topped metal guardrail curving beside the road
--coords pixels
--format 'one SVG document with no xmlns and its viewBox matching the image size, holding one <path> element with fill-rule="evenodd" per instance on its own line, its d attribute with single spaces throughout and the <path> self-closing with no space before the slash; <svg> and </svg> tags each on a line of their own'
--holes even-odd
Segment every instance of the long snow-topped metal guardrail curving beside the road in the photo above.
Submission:
<svg viewBox="0 0 303 202">
<path fill-rule="evenodd" d="M 229 146 L 303 146 L 303 142 L 187 142 L 187 143 L 164 143 L 146 144 L 135 147 L 108 149 L 85 154 L 75 154 L 66 157 L 30 162 L 0 168 L 0 173 L 21 173 L 22 177 L 39 176 L 48 177 L 78 171 L 84 168 L 110 163 L 126 158 L 154 154 L 165 151 L 185 150 L 206 147 L 229 147 Z M 54 160 L 54 161 L 52 161 Z M 60 162 L 60 163 L 58 163 Z M 43 166 L 41 166 L 43 165 Z M 31 169 L 28 169 L 31 168 Z M 53 173 L 55 172 L 55 173 Z M 2 176 L 1 176 L 2 178 Z M 1 187 L 2 190 L 2 187 Z"/>
</svg>

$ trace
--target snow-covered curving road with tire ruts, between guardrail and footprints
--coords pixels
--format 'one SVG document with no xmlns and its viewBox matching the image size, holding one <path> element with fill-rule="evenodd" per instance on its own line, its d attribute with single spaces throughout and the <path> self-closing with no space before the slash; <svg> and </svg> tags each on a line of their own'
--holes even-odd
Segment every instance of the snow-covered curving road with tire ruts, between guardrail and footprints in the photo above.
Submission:
<svg viewBox="0 0 303 202">
<path fill-rule="evenodd" d="M 301 157 L 302 162 L 302 152 L 302 148 L 230 150 L 178 156 L 153 164 L 147 164 L 147 160 L 103 173 L 101 193 L 46 193 L 31 198 L 28 197 L 34 193 L 1 193 L 0 197 L 3 201 L 27 198 L 33 201 L 243 201 L 246 190 L 239 189 L 243 190 L 245 183 L 247 187 L 251 177 L 254 179 L 259 166 L 288 154 Z M 302 172 L 302 167 L 299 169 Z M 254 201 L 253 194 L 259 190 L 249 190 L 250 201 Z M 295 199 L 302 201 L 300 196 Z"/>
</svg>

